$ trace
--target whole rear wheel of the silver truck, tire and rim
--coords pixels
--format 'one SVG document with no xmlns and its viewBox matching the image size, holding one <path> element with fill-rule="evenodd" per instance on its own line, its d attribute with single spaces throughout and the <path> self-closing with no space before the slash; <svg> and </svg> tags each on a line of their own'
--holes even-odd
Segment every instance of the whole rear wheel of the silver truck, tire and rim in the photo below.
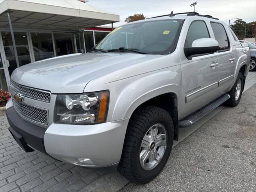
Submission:
<svg viewBox="0 0 256 192">
<path fill-rule="evenodd" d="M 230 98 L 225 102 L 227 106 L 235 107 L 238 105 L 242 96 L 243 84 L 244 84 L 243 74 L 239 72 L 236 78 L 235 84 L 233 85 L 230 92 L 228 92 L 228 94 L 230 95 Z"/>
</svg>

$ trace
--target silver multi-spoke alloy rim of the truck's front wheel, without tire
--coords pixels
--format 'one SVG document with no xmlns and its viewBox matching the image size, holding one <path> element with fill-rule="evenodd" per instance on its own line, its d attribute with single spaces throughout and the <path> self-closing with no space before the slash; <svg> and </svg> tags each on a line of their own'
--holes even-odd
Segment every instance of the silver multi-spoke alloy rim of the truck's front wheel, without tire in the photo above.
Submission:
<svg viewBox="0 0 256 192">
<path fill-rule="evenodd" d="M 166 128 L 160 124 L 154 124 L 146 132 L 140 145 L 140 165 L 144 170 L 155 168 L 167 146 Z"/>
</svg>

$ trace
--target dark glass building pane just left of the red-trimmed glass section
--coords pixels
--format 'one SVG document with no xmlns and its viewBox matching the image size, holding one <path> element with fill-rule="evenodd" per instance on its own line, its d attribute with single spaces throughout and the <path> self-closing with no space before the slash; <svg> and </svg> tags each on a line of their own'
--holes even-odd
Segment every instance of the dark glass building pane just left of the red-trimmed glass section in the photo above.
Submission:
<svg viewBox="0 0 256 192">
<path fill-rule="evenodd" d="M 75 53 L 73 33 L 54 33 L 54 39 L 57 56 Z"/>
</svg>

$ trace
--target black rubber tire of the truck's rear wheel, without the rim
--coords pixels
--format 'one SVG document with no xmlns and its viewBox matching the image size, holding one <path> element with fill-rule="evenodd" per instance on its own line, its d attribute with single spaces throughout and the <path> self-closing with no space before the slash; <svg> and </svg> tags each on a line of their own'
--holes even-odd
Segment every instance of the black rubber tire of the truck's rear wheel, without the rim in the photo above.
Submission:
<svg viewBox="0 0 256 192">
<path fill-rule="evenodd" d="M 240 92 L 238 99 L 236 100 L 236 86 L 237 86 L 237 83 L 239 80 L 241 80 L 241 92 Z M 243 86 L 244 86 L 243 74 L 241 72 L 239 72 L 238 76 L 236 78 L 235 84 L 233 85 L 232 89 L 228 92 L 228 94 L 230 95 L 230 98 L 225 102 L 226 106 L 235 107 L 238 105 L 238 103 L 240 102 L 241 96 L 242 96 Z"/>
</svg>

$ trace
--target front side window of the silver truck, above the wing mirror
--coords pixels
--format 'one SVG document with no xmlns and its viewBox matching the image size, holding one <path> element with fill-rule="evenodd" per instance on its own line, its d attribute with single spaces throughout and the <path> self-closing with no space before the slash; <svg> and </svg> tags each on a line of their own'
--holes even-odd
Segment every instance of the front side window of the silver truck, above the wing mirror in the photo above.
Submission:
<svg viewBox="0 0 256 192">
<path fill-rule="evenodd" d="M 186 37 L 186 47 L 192 47 L 192 42 L 200 38 L 210 38 L 205 22 L 194 21 L 191 23 Z"/>
</svg>

